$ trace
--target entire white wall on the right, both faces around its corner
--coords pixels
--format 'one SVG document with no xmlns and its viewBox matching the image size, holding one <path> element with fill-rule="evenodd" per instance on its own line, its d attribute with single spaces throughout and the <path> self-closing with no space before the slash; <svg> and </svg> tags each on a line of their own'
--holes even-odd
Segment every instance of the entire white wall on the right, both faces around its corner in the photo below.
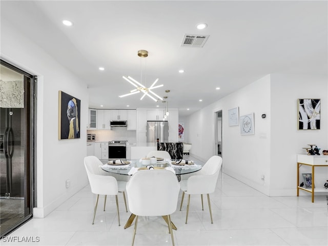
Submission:
<svg viewBox="0 0 328 246">
<path fill-rule="evenodd" d="M 215 153 L 214 113 L 222 110 L 223 172 L 264 194 L 295 196 L 296 155 L 306 153 L 302 147 L 307 144 L 328 149 L 327 92 L 326 75 L 264 76 L 185 120 L 191 153 L 203 161 Z M 297 98 L 321 99 L 320 130 L 297 130 Z M 241 136 L 240 126 L 229 127 L 228 110 L 235 107 L 239 116 L 254 112 L 255 135 Z M 317 185 L 326 177 L 328 169 L 319 170 Z"/>
</svg>

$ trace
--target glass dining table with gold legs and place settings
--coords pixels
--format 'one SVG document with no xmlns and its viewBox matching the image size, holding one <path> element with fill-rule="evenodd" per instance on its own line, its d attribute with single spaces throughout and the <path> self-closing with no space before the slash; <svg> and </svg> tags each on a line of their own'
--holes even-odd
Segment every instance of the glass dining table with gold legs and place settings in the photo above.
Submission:
<svg viewBox="0 0 328 246">
<path fill-rule="evenodd" d="M 147 166 L 152 165 L 154 169 L 168 169 L 175 172 L 179 180 L 180 180 L 180 175 L 194 173 L 202 168 L 202 166 L 197 163 L 192 163 L 192 165 L 190 165 L 190 162 L 189 165 L 188 164 L 175 165 L 177 160 L 174 159 L 160 160 L 157 161 L 156 164 L 148 164 L 148 165 L 143 165 L 141 159 L 123 160 L 124 163 L 119 163 L 118 165 L 117 163 L 115 164 L 109 163 L 110 161 L 108 159 L 102 159 L 100 161 L 104 164 L 103 166 L 101 166 L 101 169 L 110 173 L 131 176 L 133 175 L 134 172 L 142 169 L 147 169 Z M 124 226 L 124 229 L 127 229 L 131 226 L 135 217 L 136 215 L 131 214 L 131 216 L 129 217 L 128 221 Z M 167 223 L 169 223 L 166 216 L 162 216 L 162 217 Z M 171 224 L 172 224 L 172 229 L 177 230 L 176 226 L 172 221 Z"/>
</svg>

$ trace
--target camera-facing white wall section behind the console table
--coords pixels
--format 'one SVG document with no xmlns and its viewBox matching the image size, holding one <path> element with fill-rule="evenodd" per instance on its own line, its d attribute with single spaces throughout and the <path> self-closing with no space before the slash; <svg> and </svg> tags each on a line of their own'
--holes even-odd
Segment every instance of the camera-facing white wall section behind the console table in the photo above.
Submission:
<svg viewBox="0 0 328 246">
<path fill-rule="evenodd" d="M 326 76 L 271 75 L 271 180 L 270 195 L 296 194 L 296 154 L 305 154 L 303 147 L 316 144 L 328 149 L 328 83 Z M 297 99 L 321 99 L 321 129 L 297 130 Z M 320 153 L 321 153 L 320 151 Z M 303 167 L 302 167 L 303 168 Z M 311 172 L 308 171 L 301 172 Z M 328 168 L 316 168 L 316 186 L 328 179 Z M 302 179 L 300 179 L 302 180 Z M 300 192 L 303 195 L 305 192 Z"/>
</svg>

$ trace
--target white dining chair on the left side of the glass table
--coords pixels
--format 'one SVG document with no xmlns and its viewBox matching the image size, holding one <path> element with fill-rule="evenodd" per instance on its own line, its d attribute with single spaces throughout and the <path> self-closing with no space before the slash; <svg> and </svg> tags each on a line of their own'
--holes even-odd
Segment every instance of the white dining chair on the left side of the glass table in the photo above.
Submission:
<svg viewBox="0 0 328 246">
<path fill-rule="evenodd" d="M 115 195 L 117 216 L 118 216 L 118 226 L 120 226 L 117 194 L 118 192 L 123 193 L 126 212 L 128 212 L 127 201 L 125 197 L 125 189 L 126 189 L 127 182 L 117 181 L 114 177 L 105 175 L 105 173 L 103 173 L 105 171 L 101 170 L 100 168 L 100 166 L 103 165 L 103 163 L 96 156 L 85 157 L 84 165 L 90 182 L 91 192 L 97 195 L 96 204 L 93 212 L 92 224 L 94 224 L 94 219 L 96 216 L 99 195 L 105 195 L 104 211 L 106 208 L 107 195 Z"/>
</svg>

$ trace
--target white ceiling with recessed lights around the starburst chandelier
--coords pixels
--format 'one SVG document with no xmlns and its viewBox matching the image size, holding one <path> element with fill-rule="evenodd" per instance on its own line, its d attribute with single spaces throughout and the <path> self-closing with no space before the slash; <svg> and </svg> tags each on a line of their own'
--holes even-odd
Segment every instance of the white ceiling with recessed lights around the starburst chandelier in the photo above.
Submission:
<svg viewBox="0 0 328 246">
<path fill-rule="evenodd" d="M 155 93 L 171 90 L 181 116 L 266 74 L 327 74 L 327 1 L 1 1 L 1 18 L 87 81 L 91 108 L 162 107 L 118 97 L 134 89 L 122 75 L 141 81 L 141 70 L 143 84 L 164 84 Z M 197 30 L 202 22 L 208 28 Z M 181 47 L 185 34 L 210 37 Z"/>
</svg>

